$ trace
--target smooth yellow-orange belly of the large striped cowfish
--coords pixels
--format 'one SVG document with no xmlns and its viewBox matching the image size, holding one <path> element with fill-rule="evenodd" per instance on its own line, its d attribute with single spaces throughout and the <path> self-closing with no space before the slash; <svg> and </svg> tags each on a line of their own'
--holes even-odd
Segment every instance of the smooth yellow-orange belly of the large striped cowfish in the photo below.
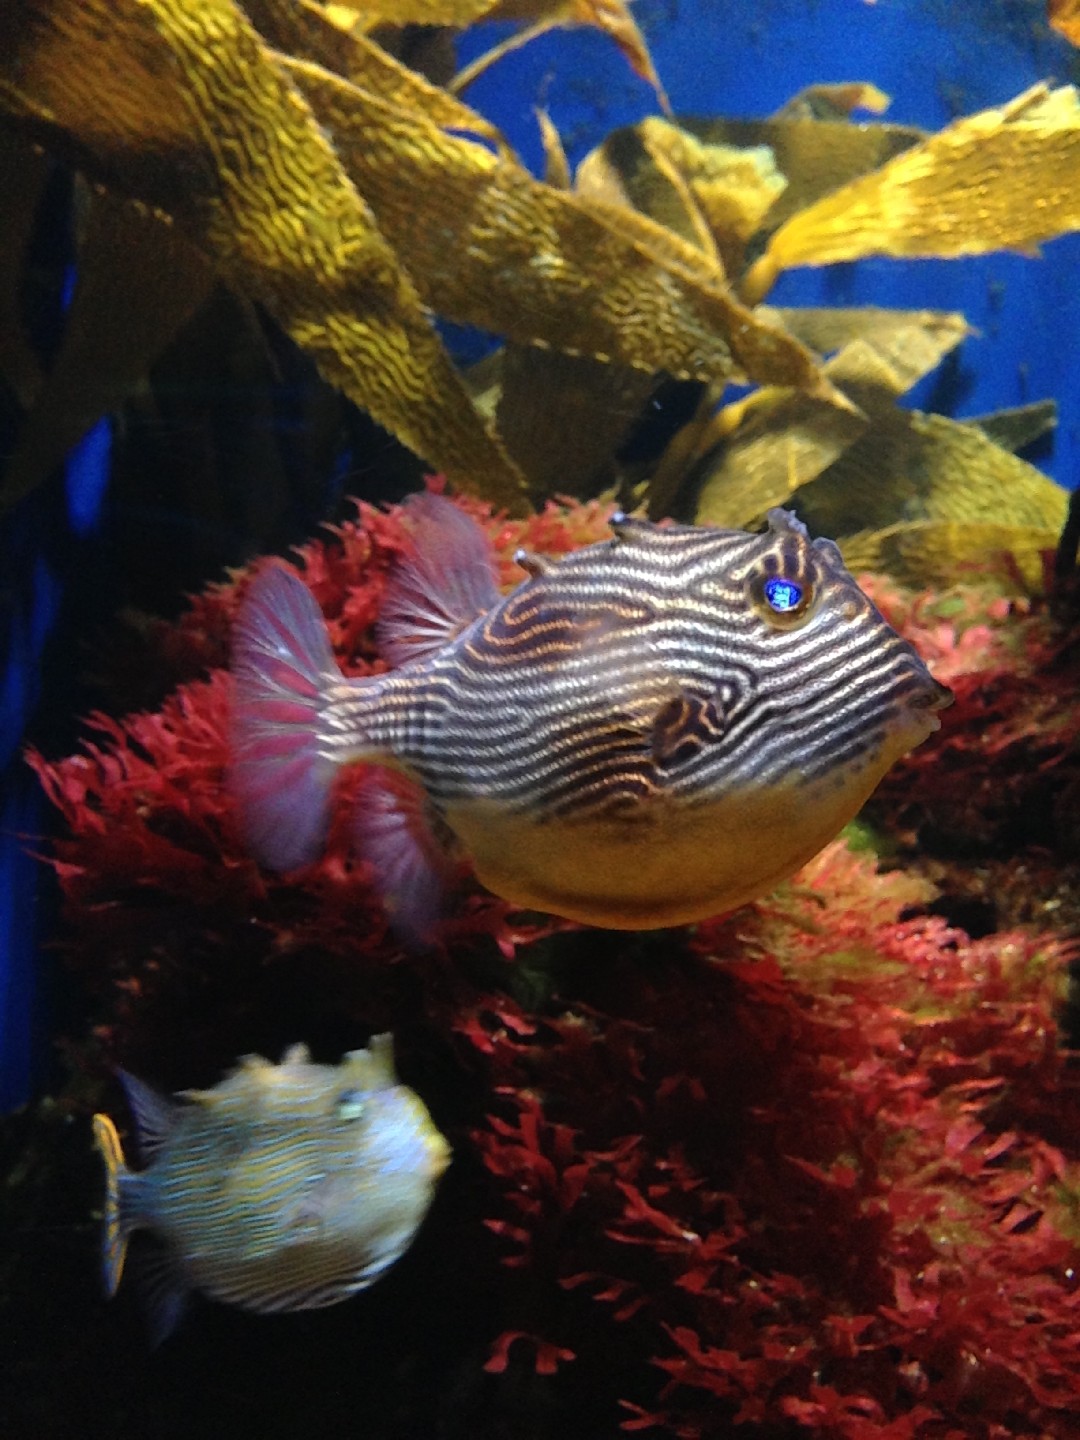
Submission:
<svg viewBox="0 0 1080 1440">
<path fill-rule="evenodd" d="M 455 805 L 446 819 L 480 880 L 504 900 L 651 930 L 768 894 L 847 825 L 887 768 L 693 802 L 658 795 L 625 821 L 541 824 L 490 801 Z"/>
</svg>

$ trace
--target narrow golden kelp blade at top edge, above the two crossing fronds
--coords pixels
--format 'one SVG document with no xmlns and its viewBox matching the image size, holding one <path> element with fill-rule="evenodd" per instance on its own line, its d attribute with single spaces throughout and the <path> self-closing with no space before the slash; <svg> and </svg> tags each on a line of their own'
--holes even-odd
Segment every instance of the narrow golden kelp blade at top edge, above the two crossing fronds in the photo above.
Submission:
<svg viewBox="0 0 1080 1440">
<path fill-rule="evenodd" d="M 321 6 L 315 0 L 245 0 L 243 9 L 275 49 L 314 60 L 389 105 L 419 109 L 436 125 L 482 135 L 505 148 L 505 140 L 491 121 L 402 65 L 360 30 L 337 23 L 331 12 L 340 7 Z"/>
</svg>

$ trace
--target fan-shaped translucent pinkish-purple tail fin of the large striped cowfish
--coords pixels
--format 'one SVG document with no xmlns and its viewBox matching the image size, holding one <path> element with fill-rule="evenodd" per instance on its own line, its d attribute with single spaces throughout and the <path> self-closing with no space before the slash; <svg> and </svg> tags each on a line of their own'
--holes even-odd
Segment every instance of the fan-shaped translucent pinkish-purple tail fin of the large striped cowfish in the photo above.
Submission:
<svg viewBox="0 0 1080 1440">
<path fill-rule="evenodd" d="M 252 580 L 232 636 L 228 783 L 245 844 L 269 870 L 318 858 L 337 762 L 323 744 L 328 687 L 341 681 L 325 622 L 281 562 Z"/>
</svg>

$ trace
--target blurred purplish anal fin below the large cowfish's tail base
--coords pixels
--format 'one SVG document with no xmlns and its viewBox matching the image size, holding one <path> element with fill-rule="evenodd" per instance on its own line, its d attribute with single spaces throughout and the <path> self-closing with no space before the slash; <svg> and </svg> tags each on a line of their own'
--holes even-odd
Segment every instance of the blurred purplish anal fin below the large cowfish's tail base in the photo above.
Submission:
<svg viewBox="0 0 1080 1440">
<path fill-rule="evenodd" d="M 436 824 L 419 785 L 397 770 L 372 770 L 357 806 L 357 850 L 374 870 L 395 933 L 420 946 L 432 939 L 454 874 Z"/>
</svg>

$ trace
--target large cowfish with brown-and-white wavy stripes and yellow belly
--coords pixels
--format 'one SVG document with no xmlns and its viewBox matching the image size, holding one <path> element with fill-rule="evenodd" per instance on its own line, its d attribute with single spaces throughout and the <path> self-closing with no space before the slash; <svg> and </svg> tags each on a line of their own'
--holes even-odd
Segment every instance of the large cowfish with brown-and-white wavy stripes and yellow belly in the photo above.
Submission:
<svg viewBox="0 0 1080 1440">
<path fill-rule="evenodd" d="M 851 819 L 952 696 L 786 510 L 760 534 L 616 514 L 500 595 L 487 539 L 415 498 L 379 639 L 343 678 L 281 562 L 233 635 L 232 786 L 251 851 L 315 860 L 338 766 L 397 772 L 357 816 L 399 930 L 438 913 L 445 844 L 521 906 L 649 929 L 770 890 Z"/>
</svg>

